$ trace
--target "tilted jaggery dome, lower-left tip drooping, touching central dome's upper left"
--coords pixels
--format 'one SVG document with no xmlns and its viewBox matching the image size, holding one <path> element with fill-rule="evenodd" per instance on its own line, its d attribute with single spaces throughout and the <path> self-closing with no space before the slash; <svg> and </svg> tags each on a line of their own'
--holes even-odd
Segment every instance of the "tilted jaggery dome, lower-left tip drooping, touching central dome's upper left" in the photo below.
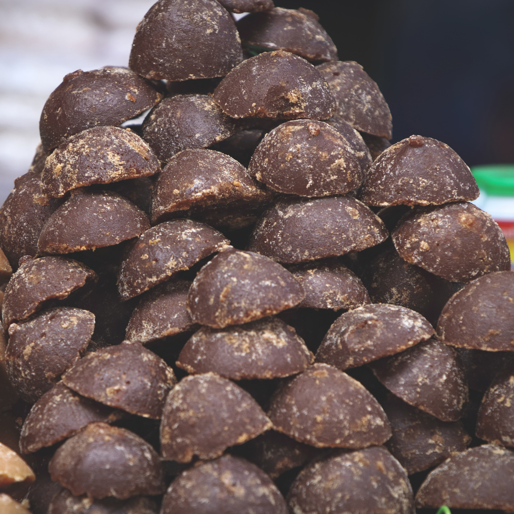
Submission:
<svg viewBox="0 0 514 514">
<path fill-rule="evenodd" d="M 221 232 L 191 219 L 152 227 L 137 238 L 120 264 L 120 296 L 128 300 L 140 295 L 228 244 Z"/>
</svg>

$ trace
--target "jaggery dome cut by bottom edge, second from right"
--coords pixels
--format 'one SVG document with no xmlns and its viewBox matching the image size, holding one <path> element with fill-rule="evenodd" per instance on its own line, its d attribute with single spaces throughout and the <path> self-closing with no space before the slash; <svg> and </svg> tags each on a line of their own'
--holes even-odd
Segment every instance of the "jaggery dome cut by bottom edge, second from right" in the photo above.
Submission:
<svg viewBox="0 0 514 514">
<path fill-rule="evenodd" d="M 287 495 L 290 512 L 414 514 L 405 470 L 385 448 L 341 450 L 306 466 Z"/>
</svg>

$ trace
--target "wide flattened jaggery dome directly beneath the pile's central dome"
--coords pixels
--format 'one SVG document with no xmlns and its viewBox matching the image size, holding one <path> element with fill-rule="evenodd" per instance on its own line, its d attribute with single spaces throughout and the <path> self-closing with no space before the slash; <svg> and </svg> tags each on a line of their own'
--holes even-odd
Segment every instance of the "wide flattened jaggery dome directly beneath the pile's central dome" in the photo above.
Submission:
<svg viewBox="0 0 514 514">
<path fill-rule="evenodd" d="M 287 377 L 313 362 L 294 328 L 278 318 L 264 318 L 222 329 L 201 327 L 177 361 L 188 373 L 212 371 L 225 378 Z"/>
</svg>

